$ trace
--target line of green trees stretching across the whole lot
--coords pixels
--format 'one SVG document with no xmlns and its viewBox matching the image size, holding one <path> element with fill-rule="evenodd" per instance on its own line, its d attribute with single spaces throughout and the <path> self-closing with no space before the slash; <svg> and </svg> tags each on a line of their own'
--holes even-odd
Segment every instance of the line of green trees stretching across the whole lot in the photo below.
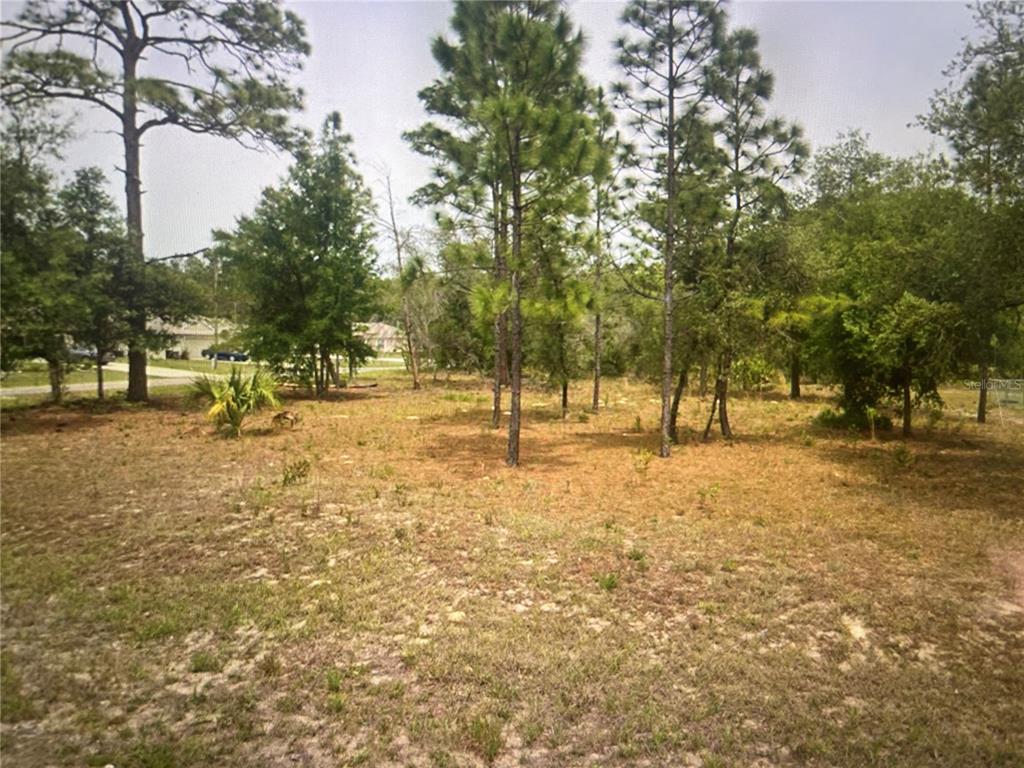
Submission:
<svg viewBox="0 0 1024 768">
<path fill-rule="evenodd" d="M 406 134 L 432 166 L 413 202 L 436 226 L 415 237 L 389 177 L 383 215 L 375 208 L 340 116 L 314 138 L 289 127 L 300 94 L 283 75 L 306 51 L 294 14 L 268 2 L 98 7 L 29 4 L 12 24 L 9 108 L 74 98 L 127 126 L 144 106 L 125 129 L 128 161 L 142 132 L 177 125 L 288 146 L 294 164 L 202 258 L 163 269 L 140 256 L 134 161 L 119 224 L 93 194 L 95 171 L 58 190 L 39 158 L 5 146 L 5 360 L 56 359 L 57 339 L 143 349 L 140 317 L 200 311 L 234 318 L 256 356 L 322 394 L 341 383 L 339 355 L 353 366 L 371 353 L 359 324 L 386 318 L 402 329 L 413 386 L 431 371 L 487 376 L 495 428 L 508 397 L 509 465 L 526 380 L 559 391 L 563 417 L 573 380 L 592 378 L 594 412 L 602 376 L 657 382 L 667 457 L 716 422 L 731 437 L 741 429 L 734 390 L 782 377 L 792 397 L 802 380 L 838 387 L 827 420 L 876 423 L 892 406 L 909 434 L 914 407 L 937 400 L 942 384 L 980 381 L 984 421 L 984 382 L 1020 373 L 1020 2 L 978 6 L 949 85 L 918 119 L 951 157 L 910 159 L 876 152 L 856 131 L 812 157 L 800 126 L 772 112 L 757 34 L 734 28 L 719 2 L 627 3 L 621 82 L 603 86 L 587 81 L 582 33 L 560 4 L 456 2 L 450 32 L 431 44 L 439 75 L 419 94 L 429 121 Z M 179 33 L 156 31 L 171 22 Z M 106 44 L 111 57 L 47 47 L 75 36 Z M 147 46 L 203 77 L 140 78 L 132 67 Z M 280 60 L 282 76 L 256 67 L 257 55 Z M 233 69 L 204 81 L 218 57 Z M 378 231 L 396 257 L 389 276 L 376 266 Z M 174 285 L 165 272 L 198 287 L 190 308 L 150 288 Z M 59 298 L 70 280 L 94 287 L 71 302 L 78 309 Z M 43 331 L 18 308 L 33 291 L 52 299 Z M 710 398 L 707 421 L 681 425 L 691 391 Z"/>
</svg>

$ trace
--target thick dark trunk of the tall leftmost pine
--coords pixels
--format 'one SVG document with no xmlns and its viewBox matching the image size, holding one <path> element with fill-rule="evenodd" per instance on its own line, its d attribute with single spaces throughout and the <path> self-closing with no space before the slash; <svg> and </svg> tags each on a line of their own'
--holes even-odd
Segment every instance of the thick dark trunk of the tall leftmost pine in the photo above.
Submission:
<svg viewBox="0 0 1024 768">
<path fill-rule="evenodd" d="M 139 136 L 137 118 L 138 106 L 135 94 L 135 69 L 138 63 L 138 53 L 132 50 L 135 41 L 129 38 L 125 42 L 124 54 L 124 110 L 121 120 L 121 135 L 125 151 L 125 225 L 128 229 L 130 253 L 128 258 L 134 267 L 131 272 L 135 279 L 133 289 L 138 291 L 138 283 L 145 279 L 145 255 L 142 250 L 142 171 L 140 161 L 141 137 Z M 132 402 L 142 402 L 150 397 L 148 384 L 145 376 L 145 307 L 142 306 L 142 296 L 136 293 L 132 297 L 131 343 L 128 347 L 128 394 Z"/>
</svg>

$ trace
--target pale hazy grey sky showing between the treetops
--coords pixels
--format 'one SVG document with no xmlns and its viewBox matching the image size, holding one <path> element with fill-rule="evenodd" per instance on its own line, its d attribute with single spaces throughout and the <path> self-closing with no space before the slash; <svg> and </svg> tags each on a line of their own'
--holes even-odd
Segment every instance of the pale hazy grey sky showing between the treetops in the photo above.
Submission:
<svg viewBox="0 0 1024 768">
<path fill-rule="evenodd" d="M 428 226 L 429 211 L 407 202 L 429 177 L 428 162 L 401 133 L 427 119 L 417 92 L 437 68 L 430 41 L 444 34 L 451 4 L 303 0 L 289 6 L 307 27 L 312 54 L 296 82 L 306 92 L 297 122 L 315 129 L 337 110 L 352 134 L 368 183 L 383 188 L 389 169 L 403 225 Z M 621 2 L 573 0 L 568 10 L 587 39 L 585 70 L 595 84 L 621 79 L 613 41 L 622 34 Z M 752 27 L 763 63 L 775 74 L 770 112 L 803 125 L 812 148 L 859 128 L 872 146 L 911 155 L 942 144 L 908 126 L 945 82 L 943 70 L 972 30 L 970 9 L 953 2 L 730 3 L 731 27 Z M 3 4 L 3 16 L 17 6 Z M 78 139 L 61 170 L 97 165 L 123 198 L 120 138 L 104 113 L 80 110 Z M 287 155 L 246 151 L 234 143 L 175 128 L 151 131 L 142 150 L 143 228 L 148 257 L 194 251 L 210 244 L 213 228 L 230 228 L 252 211 L 260 191 L 288 168 Z M 378 194 L 378 204 L 381 196 Z M 381 244 L 381 262 L 390 253 Z"/>
</svg>

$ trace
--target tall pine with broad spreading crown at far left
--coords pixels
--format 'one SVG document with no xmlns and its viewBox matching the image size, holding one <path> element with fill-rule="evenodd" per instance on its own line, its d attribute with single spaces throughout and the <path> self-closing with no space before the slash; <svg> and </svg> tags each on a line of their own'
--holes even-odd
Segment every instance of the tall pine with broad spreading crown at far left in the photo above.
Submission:
<svg viewBox="0 0 1024 768">
<path fill-rule="evenodd" d="M 142 286 L 142 137 L 177 126 L 251 145 L 291 145 L 288 84 L 309 46 L 301 19 L 276 0 L 218 3 L 30 0 L 8 31 L 2 92 L 8 104 L 72 100 L 99 108 L 124 144 L 131 283 Z M 166 73 L 183 66 L 186 78 Z M 148 73 L 148 74 L 147 74 Z M 128 398 L 147 397 L 144 295 L 132 307 Z"/>
</svg>

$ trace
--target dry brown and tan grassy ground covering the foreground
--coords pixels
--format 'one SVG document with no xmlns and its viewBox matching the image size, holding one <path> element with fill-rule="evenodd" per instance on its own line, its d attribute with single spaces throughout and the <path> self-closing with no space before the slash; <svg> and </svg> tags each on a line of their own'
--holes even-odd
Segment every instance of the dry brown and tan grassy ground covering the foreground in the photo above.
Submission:
<svg viewBox="0 0 1024 768">
<path fill-rule="evenodd" d="M 517 470 L 479 380 L 5 409 L 4 766 L 1024 764 L 1019 407 L 769 393 L 662 461 L 606 399 L 527 392 Z"/>
</svg>

